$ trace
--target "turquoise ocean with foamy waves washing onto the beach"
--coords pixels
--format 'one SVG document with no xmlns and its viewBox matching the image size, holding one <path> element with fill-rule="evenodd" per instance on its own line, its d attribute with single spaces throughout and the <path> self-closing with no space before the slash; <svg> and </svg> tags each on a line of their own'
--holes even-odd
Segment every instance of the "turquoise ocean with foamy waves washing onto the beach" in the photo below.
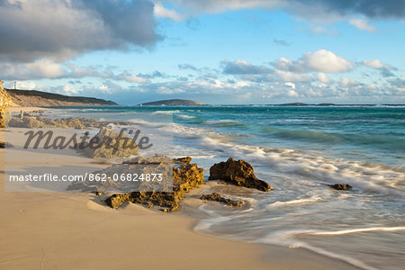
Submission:
<svg viewBox="0 0 405 270">
<path fill-rule="evenodd" d="M 142 121 L 144 112 L 173 115 L 173 124 L 159 117 Z M 166 125 L 174 144 L 166 154 L 193 157 L 207 178 L 210 166 L 234 157 L 272 185 L 270 193 L 216 187 L 247 206 L 202 205 L 208 218 L 194 228 L 200 233 L 308 248 L 364 269 L 405 267 L 404 106 L 120 106 L 49 113 Z M 336 183 L 353 190 L 329 188 Z"/>
</svg>

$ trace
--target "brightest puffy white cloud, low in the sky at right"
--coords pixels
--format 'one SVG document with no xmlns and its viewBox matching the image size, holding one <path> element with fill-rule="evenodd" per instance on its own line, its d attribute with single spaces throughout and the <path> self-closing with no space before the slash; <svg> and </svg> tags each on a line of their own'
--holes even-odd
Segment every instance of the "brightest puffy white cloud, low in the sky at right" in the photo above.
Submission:
<svg viewBox="0 0 405 270">
<path fill-rule="evenodd" d="M 352 63 L 347 59 L 326 49 L 307 52 L 302 61 L 307 67 L 320 72 L 343 72 L 353 68 Z"/>
</svg>

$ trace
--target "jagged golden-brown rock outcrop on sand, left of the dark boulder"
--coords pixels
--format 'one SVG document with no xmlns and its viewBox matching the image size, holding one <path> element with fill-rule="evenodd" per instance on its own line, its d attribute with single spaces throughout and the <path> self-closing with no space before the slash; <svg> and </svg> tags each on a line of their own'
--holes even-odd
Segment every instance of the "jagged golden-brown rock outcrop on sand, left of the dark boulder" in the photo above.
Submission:
<svg viewBox="0 0 405 270">
<path fill-rule="evenodd" d="M 105 201 L 110 207 L 120 207 L 124 202 L 134 202 L 146 205 L 147 207 L 157 206 L 162 211 L 174 211 L 179 207 L 179 202 L 184 198 L 184 194 L 190 189 L 203 184 L 203 169 L 197 164 L 191 164 L 190 158 L 182 159 L 188 162 L 171 160 L 168 157 L 160 156 L 163 164 L 170 162 L 173 167 L 173 187 L 172 191 L 136 191 L 131 193 L 113 194 Z M 150 159 L 151 164 L 156 164 L 156 157 Z M 190 160 L 190 161 L 189 161 Z M 145 158 L 136 158 L 130 162 L 126 162 L 121 169 L 130 170 L 130 165 L 145 164 Z"/>
</svg>

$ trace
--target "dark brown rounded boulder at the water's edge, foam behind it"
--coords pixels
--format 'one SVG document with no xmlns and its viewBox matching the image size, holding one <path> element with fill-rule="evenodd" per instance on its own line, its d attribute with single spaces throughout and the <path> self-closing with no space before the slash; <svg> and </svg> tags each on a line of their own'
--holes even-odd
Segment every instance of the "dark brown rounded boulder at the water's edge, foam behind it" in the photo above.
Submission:
<svg viewBox="0 0 405 270">
<path fill-rule="evenodd" d="M 211 166 L 209 180 L 223 180 L 229 184 L 256 188 L 265 192 L 271 189 L 270 184 L 257 179 L 253 166 L 245 160 L 235 161 L 232 157 L 229 157 L 226 162 Z"/>
</svg>

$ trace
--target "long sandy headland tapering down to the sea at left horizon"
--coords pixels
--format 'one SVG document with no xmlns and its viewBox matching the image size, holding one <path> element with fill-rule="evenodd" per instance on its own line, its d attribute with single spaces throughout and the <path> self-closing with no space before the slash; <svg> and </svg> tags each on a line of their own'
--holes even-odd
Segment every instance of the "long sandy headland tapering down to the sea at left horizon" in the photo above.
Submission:
<svg viewBox="0 0 405 270">
<path fill-rule="evenodd" d="M 37 90 L 5 89 L 13 102 L 23 107 L 63 107 L 63 106 L 102 106 L 118 105 L 112 101 L 85 96 L 52 94 Z"/>
</svg>

